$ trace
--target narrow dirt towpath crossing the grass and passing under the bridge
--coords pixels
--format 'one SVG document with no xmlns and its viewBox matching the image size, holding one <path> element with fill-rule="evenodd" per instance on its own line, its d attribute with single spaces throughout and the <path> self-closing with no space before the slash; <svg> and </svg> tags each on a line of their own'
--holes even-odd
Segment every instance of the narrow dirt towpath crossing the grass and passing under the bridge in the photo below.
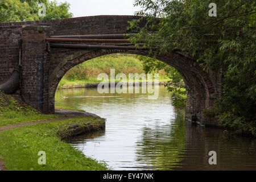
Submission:
<svg viewBox="0 0 256 182">
<path fill-rule="evenodd" d="M 36 122 L 29 122 L 29 123 L 22 123 L 17 125 L 10 125 L 5 127 L 0 127 L 0 132 L 13 129 L 15 127 L 22 127 L 22 126 L 30 126 L 30 125 L 36 125 L 39 123 L 48 123 L 48 122 L 56 122 L 56 121 L 63 121 L 71 118 L 77 118 L 77 117 L 86 117 L 86 116 L 94 116 L 97 117 L 97 115 L 92 113 L 86 113 L 81 111 L 73 111 L 73 110 L 66 110 L 66 109 L 59 109 L 55 111 L 55 114 L 57 115 L 63 115 L 61 118 L 56 119 L 48 119 L 46 121 L 36 121 Z M 5 164 L 0 159 L 0 171 L 6 171 Z"/>
</svg>

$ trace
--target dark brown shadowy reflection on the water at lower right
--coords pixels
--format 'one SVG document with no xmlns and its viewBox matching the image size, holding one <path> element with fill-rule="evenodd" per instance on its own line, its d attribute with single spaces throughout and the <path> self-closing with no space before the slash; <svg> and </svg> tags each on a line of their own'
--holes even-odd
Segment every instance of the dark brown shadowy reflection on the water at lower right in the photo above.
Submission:
<svg viewBox="0 0 256 182">
<path fill-rule="evenodd" d="M 186 123 L 186 145 L 179 169 L 256 170 L 256 140 L 228 136 L 223 130 Z M 217 165 L 209 165 L 209 151 L 217 152 Z"/>
</svg>

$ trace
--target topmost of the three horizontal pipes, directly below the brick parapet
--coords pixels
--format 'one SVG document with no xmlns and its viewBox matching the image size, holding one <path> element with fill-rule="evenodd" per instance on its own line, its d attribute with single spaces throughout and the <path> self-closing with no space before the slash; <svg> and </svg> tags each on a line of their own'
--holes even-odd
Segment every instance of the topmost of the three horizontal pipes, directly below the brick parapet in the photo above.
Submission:
<svg viewBox="0 0 256 182">
<path fill-rule="evenodd" d="M 133 35 L 133 34 L 130 34 Z M 126 39 L 127 34 L 101 34 L 101 35 L 54 35 L 50 38 L 75 38 L 75 39 Z"/>
</svg>

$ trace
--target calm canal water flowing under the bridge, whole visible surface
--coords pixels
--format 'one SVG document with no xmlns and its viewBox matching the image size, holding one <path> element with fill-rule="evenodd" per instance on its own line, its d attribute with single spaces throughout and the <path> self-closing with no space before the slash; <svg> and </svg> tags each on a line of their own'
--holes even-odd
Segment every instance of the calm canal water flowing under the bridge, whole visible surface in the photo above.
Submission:
<svg viewBox="0 0 256 182">
<path fill-rule="evenodd" d="M 97 88 L 80 88 L 57 90 L 55 102 L 106 118 L 104 131 L 81 135 L 71 144 L 113 170 L 256 170 L 255 139 L 185 121 L 164 86 L 156 100 L 142 92 L 100 94 Z M 217 165 L 209 164 L 210 151 L 216 151 Z"/>
</svg>

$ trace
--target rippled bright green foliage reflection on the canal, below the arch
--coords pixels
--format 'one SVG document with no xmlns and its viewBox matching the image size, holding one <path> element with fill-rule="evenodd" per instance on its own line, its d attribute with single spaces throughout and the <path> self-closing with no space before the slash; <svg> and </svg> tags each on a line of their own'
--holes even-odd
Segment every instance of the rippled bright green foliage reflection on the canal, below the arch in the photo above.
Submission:
<svg viewBox="0 0 256 182">
<path fill-rule="evenodd" d="M 171 125 L 143 129 L 142 140 L 137 142 L 137 162 L 155 170 L 170 170 L 179 165 L 185 148 L 185 116 L 181 110 L 176 110 L 176 114 Z"/>
</svg>

